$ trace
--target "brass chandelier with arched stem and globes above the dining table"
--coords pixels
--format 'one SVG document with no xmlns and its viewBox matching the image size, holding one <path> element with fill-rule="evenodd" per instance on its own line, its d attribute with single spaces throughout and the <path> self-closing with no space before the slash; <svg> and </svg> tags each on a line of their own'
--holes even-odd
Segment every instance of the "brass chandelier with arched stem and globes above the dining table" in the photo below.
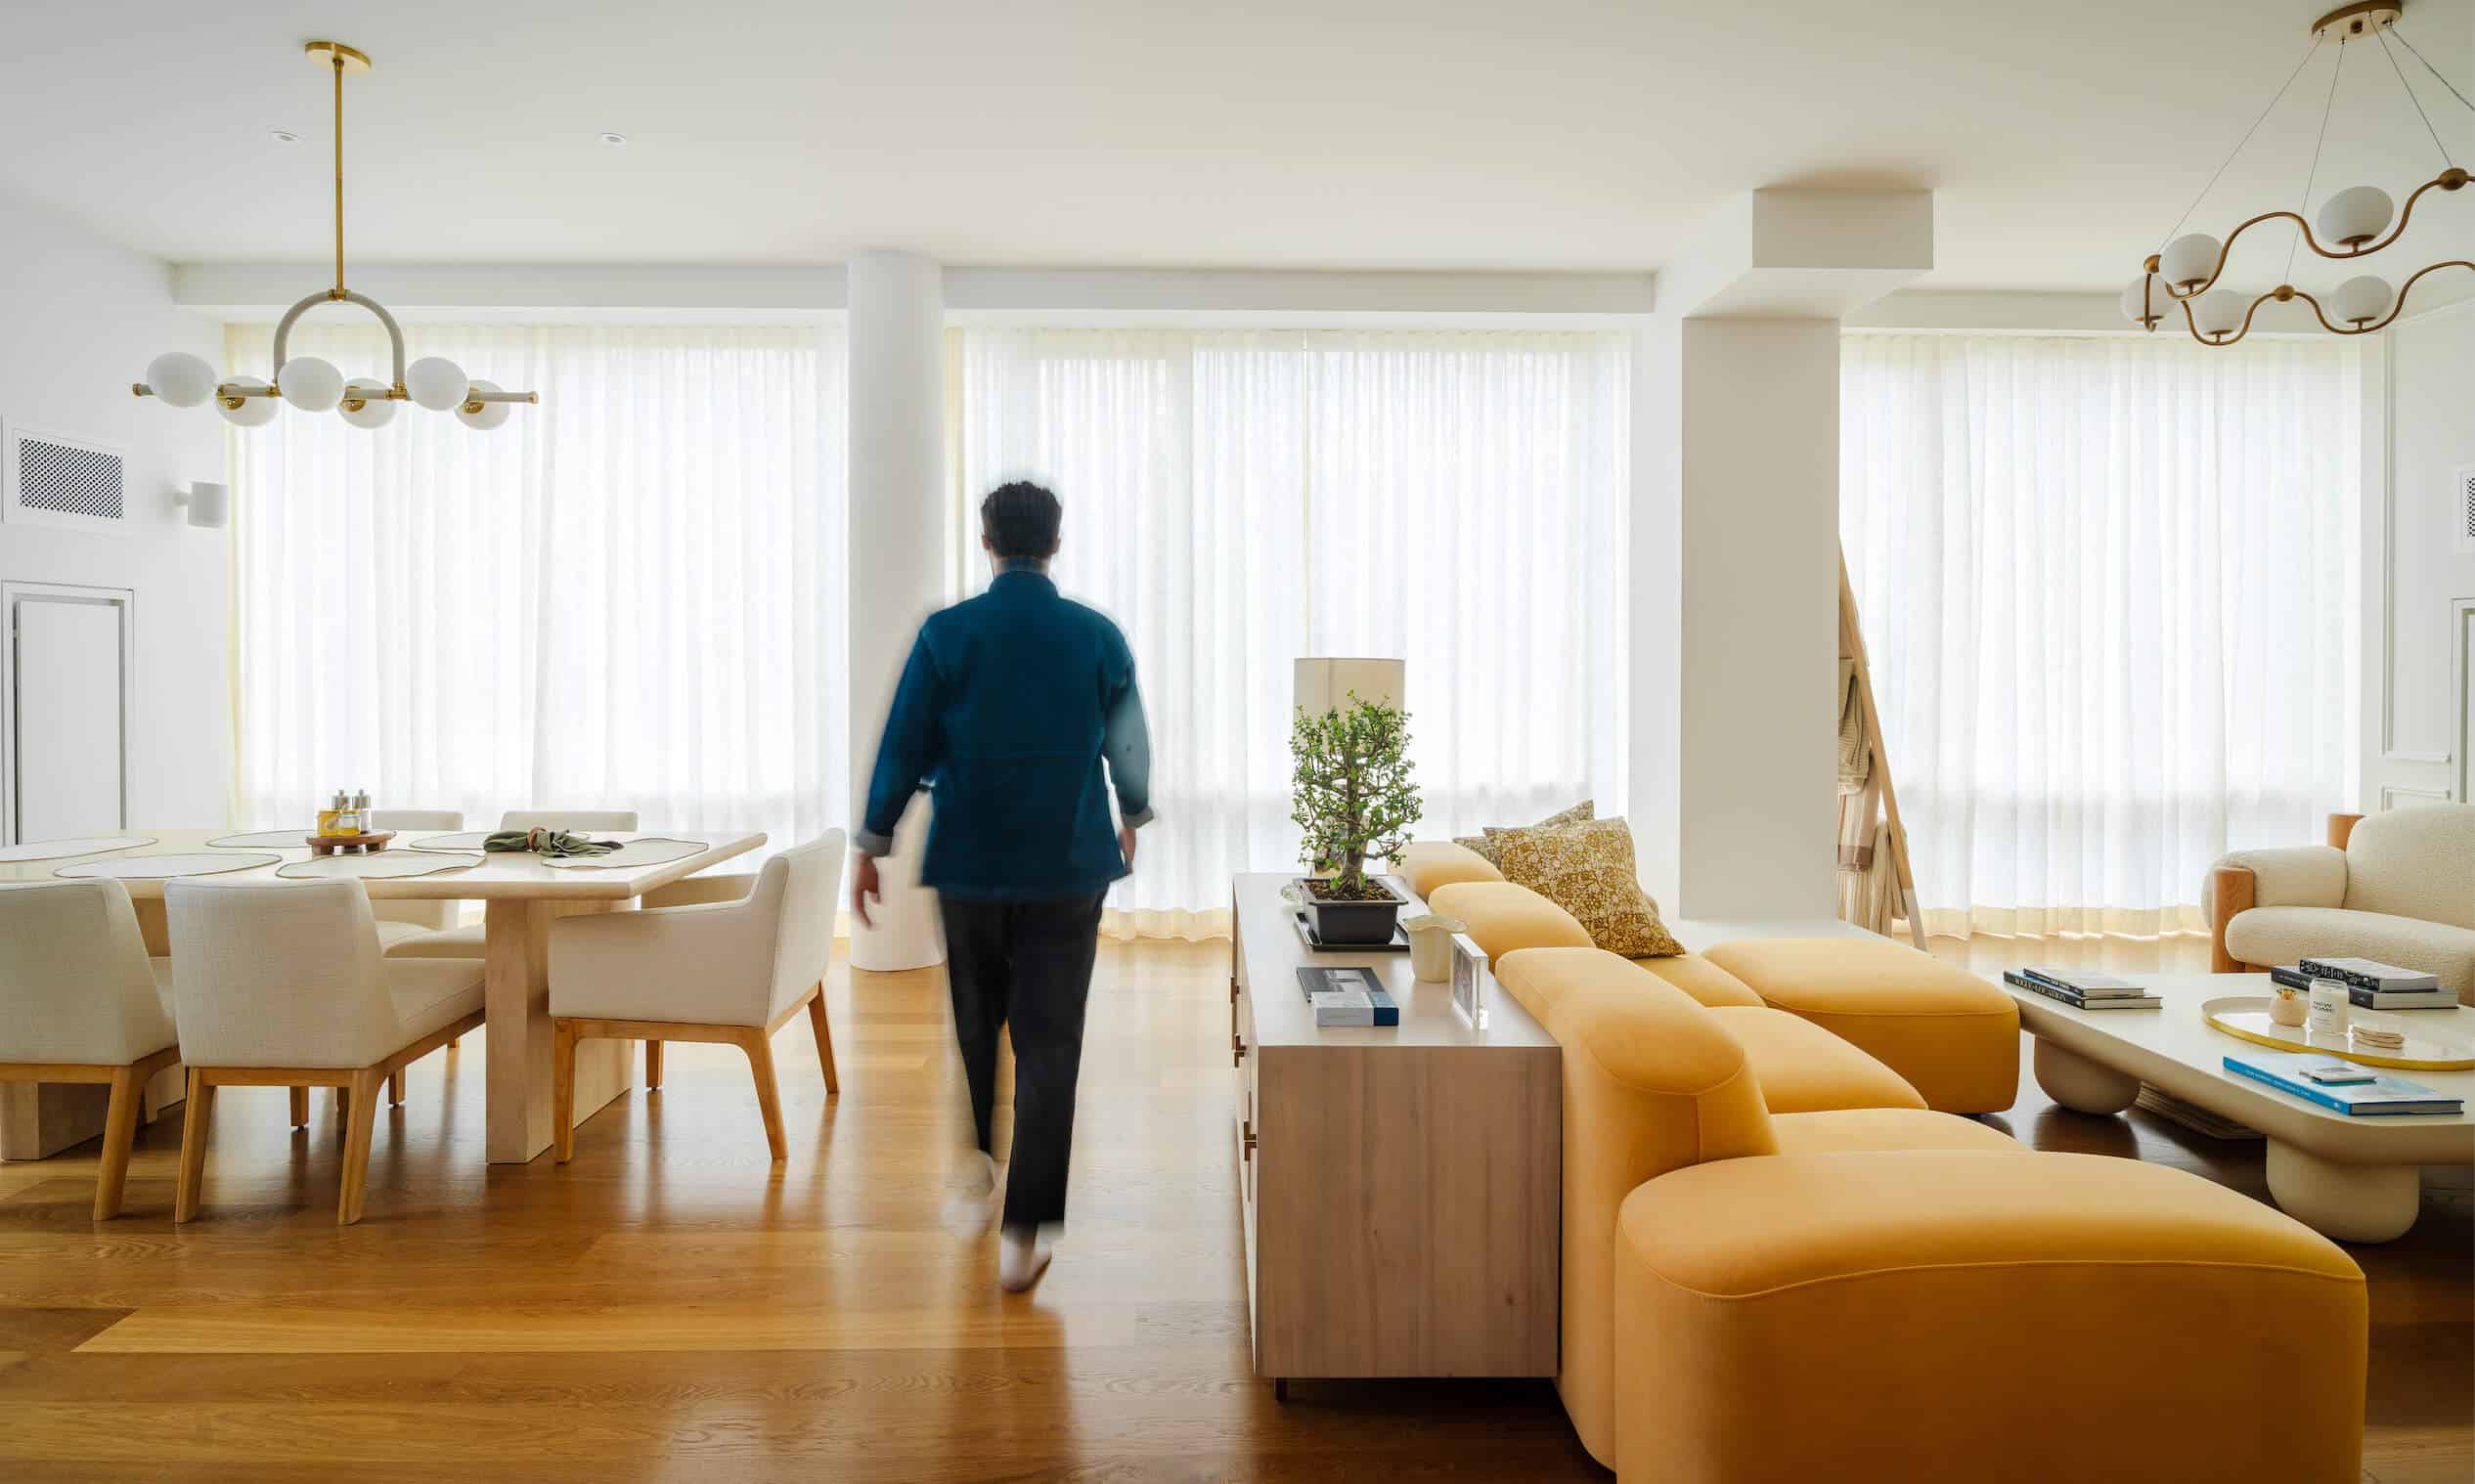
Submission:
<svg viewBox="0 0 2475 1484">
<path fill-rule="evenodd" d="M 225 423 L 257 428 L 275 420 L 277 398 L 304 413 L 342 411 L 354 428 L 384 428 L 396 416 L 396 403 L 413 401 L 436 413 L 453 411 L 468 428 L 497 428 L 507 420 L 507 403 L 537 403 L 530 391 L 500 391 L 495 381 L 468 378 L 463 366 L 446 356 L 421 356 L 403 364 L 403 329 L 384 304 L 369 294 L 344 287 L 344 74 L 369 72 L 369 57 L 344 42 L 309 42 L 302 47 L 317 67 L 334 77 L 334 287 L 319 289 L 285 309 L 275 324 L 275 381 L 255 376 L 218 378 L 215 369 L 188 351 L 168 351 L 146 364 L 146 381 L 129 391 L 156 396 L 176 408 L 193 408 L 208 398 Z M 317 356 L 287 356 L 292 322 L 319 304 L 359 304 L 379 317 L 394 349 L 391 378 L 351 378 Z"/>
</svg>

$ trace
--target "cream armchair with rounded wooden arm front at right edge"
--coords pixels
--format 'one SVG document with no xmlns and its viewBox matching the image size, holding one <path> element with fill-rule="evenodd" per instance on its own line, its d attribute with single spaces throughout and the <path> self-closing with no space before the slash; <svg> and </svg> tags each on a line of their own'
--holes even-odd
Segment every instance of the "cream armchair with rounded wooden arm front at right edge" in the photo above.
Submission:
<svg viewBox="0 0 2475 1484">
<path fill-rule="evenodd" d="M 2223 856 L 2200 900 L 2220 974 L 2369 957 L 2475 1004 L 2475 804 L 2331 814 L 2326 846 Z"/>
</svg>

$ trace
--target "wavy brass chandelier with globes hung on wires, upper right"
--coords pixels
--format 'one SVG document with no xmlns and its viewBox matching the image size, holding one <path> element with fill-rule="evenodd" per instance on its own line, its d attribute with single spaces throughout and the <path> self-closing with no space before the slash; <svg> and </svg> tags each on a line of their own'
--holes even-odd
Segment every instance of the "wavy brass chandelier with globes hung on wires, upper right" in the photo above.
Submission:
<svg viewBox="0 0 2475 1484">
<path fill-rule="evenodd" d="M 2287 74 L 2284 87 L 2277 89 L 2270 106 L 2260 111 L 2252 129 L 2235 143 L 2235 153 L 2225 156 L 2225 166 L 2235 163 L 2235 156 L 2240 156 L 2242 146 L 2252 141 L 2252 134 L 2257 134 L 2260 124 L 2277 109 L 2277 101 L 2287 96 L 2287 89 L 2294 87 L 2294 79 L 2312 64 L 2312 57 L 2322 49 L 2322 45 L 2336 42 L 2336 64 L 2329 69 L 2329 96 L 2322 104 L 2322 134 L 2312 146 L 2312 168 L 2304 176 L 2304 205 L 2312 203 L 2312 183 L 2319 178 L 2319 148 L 2329 136 L 2329 109 L 2336 104 L 2336 82 L 2346 72 L 2349 45 L 2361 45 L 2366 49 L 2378 47 L 2388 59 L 2398 77 L 2398 87 L 2406 89 L 2408 101 L 2416 106 L 2416 116 L 2423 119 L 2426 131 L 2433 136 L 2433 146 L 2440 151 L 2440 173 L 2416 186 L 2403 208 L 2393 208 L 2388 193 L 2378 186 L 2349 186 L 2322 203 L 2317 213 L 2317 235 L 2312 223 L 2307 223 L 2299 210 L 2265 210 L 2228 232 L 2225 242 L 2210 237 L 2208 232 L 2190 232 L 2183 237 L 2173 237 L 2173 232 L 2168 232 L 2173 240 L 2166 242 L 2161 252 L 2148 255 L 2141 277 L 2131 279 L 2131 287 L 2124 289 L 2121 307 L 2126 319 L 2141 329 L 2156 331 L 2163 319 L 2180 314 L 2190 339 L 2203 346 L 2230 346 L 2252 331 L 2252 314 L 2257 314 L 2262 304 L 2272 299 L 2279 304 L 2302 299 L 2312 307 L 2312 314 L 2329 334 L 2371 334 L 2376 329 L 2386 329 L 2406 309 L 2406 294 L 2423 279 L 2423 275 L 2440 272 L 2443 267 L 2475 272 L 2475 262 L 2453 257 L 2418 267 L 2396 289 L 2391 289 L 2388 279 L 2378 275 L 2359 275 L 2341 282 L 2329 294 L 2326 304 L 2297 289 L 2292 282 L 2282 282 L 2257 297 L 2218 287 L 2218 279 L 2225 277 L 2225 260 L 2235 250 L 2235 240 L 2260 223 L 2279 218 L 2292 220 L 2297 247 L 2312 247 L 2312 252 L 2322 257 L 2351 262 L 2356 257 L 2371 257 L 2396 242 L 2406 232 L 2406 223 L 2416 215 L 2416 203 L 2421 203 L 2428 193 L 2465 188 L 2468 171 L 2458 166 L 2450 158 L 2450 148 L 2440 143 L 2440 131 L 2433 129 L 2430 114 L 2423 111 L 2423 99 L 2416 96 L 2413 84 L 2406 79 L 2406 67 L 2398 62 L 2396 47 L 2403 47 L 2416 62 L 2423 62 L 2423 67 L 2440 79 L 2440 87 L 2445 87 L 2453 99 L 2465 104 L 2468 111 L 2475 111 L 2475 101 L 2468 101 L 2468 96 L 2458 92 L 2448 77 L 2440 77 L 2440 69 L 2426 62 L 2423 52 L 2418 52 L 2413 42 L 2391 30 L 2398 25 L 2398 12 L 2403 7 L 2406 0 L 2359 0 L 2314 20 L 2312 52 L 2304 52 L 2304 59 L 2292 74 Z M 2391 40 L 2396 40 L 2396 47 L 2391 47 Z M 2215 186 L 2218 178 L 2225 176 L 2225 166 L 2218 166 L 2218 176 L 2210 176 L 2208 186 Z M 2200 188 L 2200 198 L 2208 195 L 2208 186 Z M 2200 200 L 2193 200 L 2190 205 L 2198 208 Z M 2396 225 L 2388 220 L 2391 210 L 2396 210 Z M 2183 210 L 2183 220 L 2190 220 L 2190 208 Z M 2180 225 L 2183 223 L 2176 223 L 2176 230 L 2180 230 Z M 2322 237 L 2326 237 L 2329 245 L 2324 245 Z M 2287 275 L 2292 272 L 2294 250 L 2289 247 Z"/>
</svg>

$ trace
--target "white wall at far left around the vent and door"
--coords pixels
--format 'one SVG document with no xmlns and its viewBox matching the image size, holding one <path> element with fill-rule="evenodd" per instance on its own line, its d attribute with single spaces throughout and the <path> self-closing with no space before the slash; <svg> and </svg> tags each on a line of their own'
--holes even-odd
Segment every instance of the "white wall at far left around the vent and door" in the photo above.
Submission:
<svg viewBox="0 0 2475 1484">
<path fill-rule="evenodd" d="M 171 297 L 171 270 L 0 193 L 0 425 L 77 433 L 129 455 L 119 534 L 0 524 L 0 579 L 136 591 L 129 824 L 218 829 L 233 779 L 225 532 L 171 505 L 225 477 L 223 420 L 129 396 L 146 361 L 223 364 L 223 334 Z"/>
</svg>

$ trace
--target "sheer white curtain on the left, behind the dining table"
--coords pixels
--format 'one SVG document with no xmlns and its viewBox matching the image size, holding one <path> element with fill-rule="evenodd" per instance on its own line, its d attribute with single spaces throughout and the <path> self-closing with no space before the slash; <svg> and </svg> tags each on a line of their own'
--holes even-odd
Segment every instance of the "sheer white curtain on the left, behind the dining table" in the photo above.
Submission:
<svg viewBox="0 0 2475 1484">
<path fill-rule="evenodd" d="M 238 769 L 252 826 L 379 806 L 636 809 L 646 829 L 846 819 L 839 331 L 413 326 L 542 393 L 493 433 L 235 435 Z M 267 373 L 267 326 L 233 326 Z M 374 326 L 292 354 L 386 366 Z"/>
</svg>

